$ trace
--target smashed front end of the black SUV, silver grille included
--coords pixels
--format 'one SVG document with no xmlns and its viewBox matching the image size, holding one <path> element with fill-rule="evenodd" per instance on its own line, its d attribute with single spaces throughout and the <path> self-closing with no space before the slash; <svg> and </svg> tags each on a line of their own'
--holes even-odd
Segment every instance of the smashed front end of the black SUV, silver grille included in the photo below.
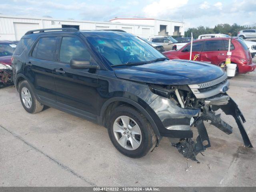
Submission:
<svg viewBox="0 0 256 192">
<path fill-rule="evenodd" d="M 195 126 L 198 130 L 196 141 L 193 141 L 191 137 L 171 139 L 172 146 L 175 146 L 185 158 L 196 160 L 198 153 L 203 152 L 211 146 L 204 121 L 209 121 L 210 124 L 216 126 L 226 134 L 232 133 L 232 127 L 220 118 L 220 114 L 215 114 L 218 109 L 221 109 L 226 115 L 232 115 L 234 117 L 242 135 L 244 145 L 246 147 L 252 147 L 243 126 L 245 118 L 234 100 L 226 94 L 228 86 L 229 82 L 226 74 L 216 80 L 202 84 L 170 86 L 165 88 L 151 86 L 152 92 L 169 98 L 180 108 L 184 108 L 184 110 L 198 110 L 197 115 L 194 115 L 190 121 L 190 128 Z M 168 95 L 166 95 L 167 93 Z"/>
</svg>

